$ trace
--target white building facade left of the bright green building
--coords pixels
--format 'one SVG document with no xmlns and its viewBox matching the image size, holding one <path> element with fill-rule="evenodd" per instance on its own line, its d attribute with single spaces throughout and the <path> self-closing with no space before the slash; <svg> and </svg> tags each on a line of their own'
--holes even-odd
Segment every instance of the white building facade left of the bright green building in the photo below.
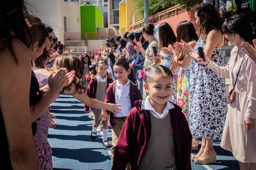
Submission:
<svg viewBox="0 0 256 170">
<path fill-rule="evenodd" d="M 64 0 L 31 0 L 32 12 L 44 23 L 54 29 L 61 43 L 64 43 L 64 32 L 81 32 L 80 5 L 76 1 Z"/>
</svg>

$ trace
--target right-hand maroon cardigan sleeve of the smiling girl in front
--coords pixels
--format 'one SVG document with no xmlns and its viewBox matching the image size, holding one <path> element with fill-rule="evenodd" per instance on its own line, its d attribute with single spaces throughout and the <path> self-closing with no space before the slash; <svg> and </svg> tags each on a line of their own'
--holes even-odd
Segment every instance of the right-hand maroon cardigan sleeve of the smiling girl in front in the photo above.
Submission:
<svg viewBox="0 0 256 170">
<path fill-rule="evenodd" d="M 183 161 L 183 169 L 191 170 L 191 141 L 192 134 L 189 129 L 188 122 L 184 114 L 180 114 L 179 116 L 180 122 L 180 132 L 181 132 L 181 157 Z"/>
</svg>

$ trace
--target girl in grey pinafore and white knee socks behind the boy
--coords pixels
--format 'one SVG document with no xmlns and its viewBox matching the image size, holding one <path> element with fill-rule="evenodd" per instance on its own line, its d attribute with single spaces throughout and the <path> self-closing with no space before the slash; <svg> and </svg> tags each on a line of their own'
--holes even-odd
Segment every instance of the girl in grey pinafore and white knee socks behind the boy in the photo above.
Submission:
<svg viewBox="0 0 256 170">
<path fill-rule="evenodd" d="M 105 59 L 100 59 L 94 65 L 94 71 L 97 75 L 91 79 L 86 90 L 86 95 L 89 98 L 97 99 L 101 102 L 105 100 L 105 94 L 110 83 L 113 82 L 111 78 L 107 77 L 108 63 Z M 89 107 L 85 105 L 85 112 L 89 111 Z M 97 128 L 102 121 L 103 124 L 103 143 L 102 145 L 106 148 L 112 145 L 108 142 L 108 120 L 101 120 L 101 109 L 91 108 L 90 115 L 93 120 L 91 139 L 95 140 L 97 135 Z"/>
</svg>

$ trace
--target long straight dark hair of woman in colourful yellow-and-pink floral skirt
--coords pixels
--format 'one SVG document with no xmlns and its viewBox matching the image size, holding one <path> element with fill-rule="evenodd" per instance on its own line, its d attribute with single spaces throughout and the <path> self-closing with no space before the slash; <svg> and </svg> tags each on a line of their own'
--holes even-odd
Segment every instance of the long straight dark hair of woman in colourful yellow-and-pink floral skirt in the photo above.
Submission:
<svg viewBox="0 0 256 170">
<path fill-rule="evenodd" d="M 191 42 L 192 40 L 198 41 L 198 36 L 196 34 L 196 29 L 194 25 L 190 21 L 182 21 L 178 24 L 176 27 L 177 32 L 177 42 L 181 42 L 181 40 L 185 42 Z M 175 49 L 175 53 L 178 56 L 177 57 L 177 63 L 179 64 L 179 61 L 183 60 L 185 57 L 185 54 Z"/>
</svg>

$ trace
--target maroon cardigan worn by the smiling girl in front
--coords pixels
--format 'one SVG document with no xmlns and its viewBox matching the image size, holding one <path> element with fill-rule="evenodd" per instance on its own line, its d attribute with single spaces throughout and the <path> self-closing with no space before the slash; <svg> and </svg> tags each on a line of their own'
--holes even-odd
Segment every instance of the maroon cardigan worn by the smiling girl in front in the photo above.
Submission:
<svg viewBox="0 0 256 170">
<path fill-rule="evenodd" d="M 128 162 L 131 163 L 131 170 L 139 168 L 151 135 L 150 113 L 148 110 L 141 109 L 142 101 L 135 102 L 135 107 L 127 116 L 115 147 L 112 170 L 125 170 Z M 169 113 L 177 169 L 191 170 L 192 135 L 182 109 L 175 104 L 174 106 L 175 108 L 170 109 Z"/>
</svg>

